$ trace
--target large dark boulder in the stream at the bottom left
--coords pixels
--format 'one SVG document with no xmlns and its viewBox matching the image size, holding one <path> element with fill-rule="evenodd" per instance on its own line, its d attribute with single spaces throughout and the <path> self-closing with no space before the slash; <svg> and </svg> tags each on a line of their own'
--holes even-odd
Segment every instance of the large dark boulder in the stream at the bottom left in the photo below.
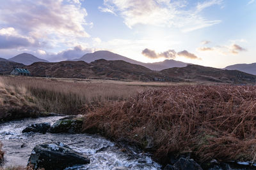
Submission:
<svg viewBox="0 0 256 170">
<path fill-rule="evenodd" d="M 36 145 L 28 160 L 28 166 L 33 166 L 33 169 L 62 170 L 66 167 L 89 163 L 88 157 L 75 152 L 61 142 Z"/>
</svg>

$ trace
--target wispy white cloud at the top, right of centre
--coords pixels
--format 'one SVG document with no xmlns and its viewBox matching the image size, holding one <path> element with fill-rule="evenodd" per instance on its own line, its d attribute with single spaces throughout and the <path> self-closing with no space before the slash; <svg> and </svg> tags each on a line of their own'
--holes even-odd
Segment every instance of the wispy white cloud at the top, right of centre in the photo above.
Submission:
<svg viewBox="0 0 256 170">
<path fill-rule="evenodd" d="M 200 11 L 222 0 L 211 0 L 191 6 L 187 1 L 168 0 L 104 0 L 100 11 L 114 13 L 124 18 L 132 28 L 137 24 L 179 27 L 188 32 L 218 24 L 220 20 L 207 20 Z"/>
</svg>

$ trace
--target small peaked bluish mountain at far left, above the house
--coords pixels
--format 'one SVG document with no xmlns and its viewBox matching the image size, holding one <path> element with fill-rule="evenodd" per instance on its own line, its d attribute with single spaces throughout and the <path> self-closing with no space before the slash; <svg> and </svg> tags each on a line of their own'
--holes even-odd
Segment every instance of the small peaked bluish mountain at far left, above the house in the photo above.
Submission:
<svg viewBox="0 0 256 170">
<path fill-rule="evenodd" d="M 19 55 L 16 55 L 15 57 L 12 57 L 11 59 L 14 62 L 19 62 L 25 65 L 33 64 L 34 62 L 49 62 L 44 59 L 39 59 L 38 57 L 35 57 L 35 55 L 32 55 L 30 53 L 20 53 Z"/>
</svg>

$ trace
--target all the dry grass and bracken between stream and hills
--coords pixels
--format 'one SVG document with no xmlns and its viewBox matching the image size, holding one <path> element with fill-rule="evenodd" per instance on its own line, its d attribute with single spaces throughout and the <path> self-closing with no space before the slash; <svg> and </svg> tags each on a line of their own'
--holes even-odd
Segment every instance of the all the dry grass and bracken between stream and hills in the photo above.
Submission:
<svg viewBox="0 0 256 170">
<path fill-rule="evenodd" d="M 256 155 L 254 86 L 0 77 L 0 94 L 0 118 L 84 114 L 84 132 L 129 141 L 163 164 L 171 154 L 200 162 Z"/>
</svg>

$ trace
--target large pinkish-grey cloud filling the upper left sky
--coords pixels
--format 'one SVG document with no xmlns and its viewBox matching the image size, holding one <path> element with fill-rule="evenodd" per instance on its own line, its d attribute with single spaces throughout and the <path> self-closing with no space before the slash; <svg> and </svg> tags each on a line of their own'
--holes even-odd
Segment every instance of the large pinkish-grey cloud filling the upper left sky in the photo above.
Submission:
<svg viewBox="0 0 256 170">
<path fill-rule="evenodd" d="M 47 41 L 52 46 L 89 37 L 84 31 L 84 25 L 88 25 L 84 19 L 86 15 L 86 10 L 78 0 L 8 0 L 0 6 L 0 29 L 3 25 L 12 27 L 29 39 Z M 14 41 L 14 38 L 9 39 Z M 4 41 L 3 38 L 2 40 Z M 5 42 L 8 41 L 10 40 L 6 38 Z M 16 46 L 18 45 L 28 46 L 29 43 L 25 39 L 24 44 L 17 43 Z M 12 46 L 14 47 L 15 45 Z"/>
</svg>

